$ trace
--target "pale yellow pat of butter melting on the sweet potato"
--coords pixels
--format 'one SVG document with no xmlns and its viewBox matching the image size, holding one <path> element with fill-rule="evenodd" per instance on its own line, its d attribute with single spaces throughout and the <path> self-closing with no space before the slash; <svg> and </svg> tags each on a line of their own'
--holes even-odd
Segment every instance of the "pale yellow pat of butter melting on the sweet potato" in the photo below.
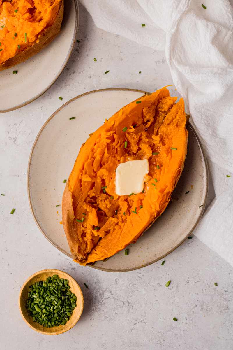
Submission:
<svg viewBox="0 0 233 350">
<path fill-rule="evenodd" d="M 140 193 L 144 186 L 144 177 L 149 172 L 147 159 L 129 160 L 116 168 L 116 194 L 126 196 Z"/>
</svg>

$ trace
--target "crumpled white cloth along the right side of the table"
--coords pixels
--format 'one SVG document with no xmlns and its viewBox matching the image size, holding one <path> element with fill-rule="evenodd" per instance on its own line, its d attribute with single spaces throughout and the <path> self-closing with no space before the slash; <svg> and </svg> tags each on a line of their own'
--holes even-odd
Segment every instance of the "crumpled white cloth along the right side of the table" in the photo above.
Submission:
<svg viewBox="0 0 233 350">
<path fill-rule="evenodd" d="M 233 172 L 230 1 L 203 0 L 204 9 L 197 0 L 81 0 L 97 27 L 165 51 L 205 154 L 222 168 L 213 181 L 218 195 L 195 234 L 233 265 L 233 177 L 226 182 L 226 174 Z M 141 23 L 146 24 L 143 31 Z"/>
</svg>

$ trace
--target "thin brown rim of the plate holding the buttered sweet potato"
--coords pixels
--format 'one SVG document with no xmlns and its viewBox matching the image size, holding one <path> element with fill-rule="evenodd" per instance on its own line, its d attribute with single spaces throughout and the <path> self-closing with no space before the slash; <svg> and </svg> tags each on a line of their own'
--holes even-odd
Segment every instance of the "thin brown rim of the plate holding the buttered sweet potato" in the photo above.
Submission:
<svg viewBox="0 0 233 350">
<path fill-rule="evenodd" d="M 35 213 L 34 213 L 34 210 L 32 208 L 32 201 L 31 201 L 31 196 L 30 196 L 30 186 L 29 186 L 29 177 L 30 177 L 30 166 L 31 166 L 31 159 L 32 159 L 32 156 L 33 156 L 33 153 L 34 153 L 34 149 L 36 147 L 36 144 L 37 144 L 37 141 L 41 135 L 41 133 L 43 132 L 44 128 L 46 127 L 46 125 L 50 122 L 50 120 L 56 116 L 56 114 L 58 112 L 60 112 L 66 105 L 68 105 L 69 103 L 73 102 L 74 100 L 77 100 L 78 98 L 81 98 L 83 96 L 86 96 L 88 94 L 91 94 L 91 93 L 96 93 L 96 92 L 102 92 L 102 91 L 133 91 L 133 92 L 140 92 L 140 93 L 144 93 L 144 94 L 148 94 L 147 91 L 144 91 L 144 90 L 139 90 L 139 89 L 130 89 L 130 88 L 124 88 L 124 87 L 109 87 L 109 88 L 106 88 L 106 89 L 97 89 L 97 90 L 92 90 L 92 91 L 88 91 L 88 92 L 85 92 L 85 93 L 82 93 L 78 96 L 75 96 L 73 97 L 72 99 L 70 99 L 69 101 L 67 101 L 66 103 L 64 103 L 62 106 L 60 106 L 46 121 L 45 123 L 43 124 L 43 126 L 41 127 L 41 129 L 39 130 L 37 136 L 36 136 L 36 139 L 32 145 L 32 148 L 31 148 L 31 152 L 30 152 L 30 155 L 29 155 L 29 160 L 28 160 L 28 169 L 27 169 L 27 193 L 28 193 L 28 201 L 29 201 L 29 207 L 30 207 L 30 210 L 31 210 L 31 214 L 37 224 L 37 227 L 39 228 L 39 230 L 41 231 L 41 233 L 44 235 L 44 237 L 55 247 L 57 248 L 60 252 L 62 252 L 63 254 L 65 254 L 66 256 L 70 257 L 73 259 L 72 255 L 71 254 L 67 254 L 63 248 L 60 248 L 56 243 L 54 243 L 52 240 L 50 240 L 47 236 L 46 236 L 46 233 L 42 230 L 42 228 L 40 227 L 39 223 L 37 222 L 37 219 L 36 219 L 36 216 L 35 216 Z M 137 270 L 139 268 L 143 268 L 143 267 L 146 267 L 146 266 L 149 266 L 151 264 L 154 264 L 154 262 L 156 261 L 159 261 L 160 259 L 166 257 L 168 254 L 172 253 L 176 248 L 178 248 L 184 241 L 185 239 L 187 239 L 190 234 L 192 233 L 192 231 L 194 231 L 194 229 L 196 228 L 197 224 L 199 223 L 203 213 L 204 213 L 204 210 L 205 210 L 205 206 L 206 206 L 206 201 L 207 201 L 207 195 L 208 195 L 208 189 L 209 189 L 209 169 L 208 169 L 208 165 L 207 165 L 207 160 L 206 160 L 206 157 L 205 157 L 205 154 L 204 154 L 204 150 L 203 150 L 203 146 L 202 146 L 202 143 L 201 143 L 201 140 L 199 139 L 199 136 L 195 130 L 195 128 L 192 126 L 192 124 L 190 123 L 190 121 L 188 121 L 188 125 L 190 126 L 192 132 L 194 133 L 197 141 L 198 141 L 198 144 L 199 144 L 199 147 L 201 149 L 201 153 L 202 153 L 202 156 L 203 156 L 203 160 L 204 160 L 204 165 L 205 165 L 205 171 L 206 171 L 206 188 L 205 188 L 205 194 L 204 194 L 204 201 L 203 201 L 203 207 L 198 215 L 198 218 L 195 222 L 194 225 L 192 225 L 192 228 L 189 230 L 189 232 L 187 233 L 187 235 L 184 237 L 183 240 L 181 240 L 175 247 L 173 247 L 172 249 L 170 249 L 166 254 L 163 254 L 162 256 L 146 263 L 146 264 L 141 264 L 140 266 L 136 266 L 136 267 L 133 267 L 133 268 L 128 268 L 128 269 L 108 269 L 108 268 L 104 268 L 104 267 L 99 267 L 99 266 L 94 266 L 94 265 L 88 265 L 89 267 L 92 267 L 94 269 L 97 269 L 97 270 L 101 270 L 101 271 L 106 271 L 106 272 L 128 272 L 128 271 L 134 271 L 134 270 Z"/>
</svg>

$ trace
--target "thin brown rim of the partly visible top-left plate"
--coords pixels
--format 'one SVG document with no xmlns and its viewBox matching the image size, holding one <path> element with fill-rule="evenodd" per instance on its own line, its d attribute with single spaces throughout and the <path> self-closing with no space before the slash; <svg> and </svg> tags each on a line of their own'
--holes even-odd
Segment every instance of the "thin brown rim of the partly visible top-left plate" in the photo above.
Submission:
<svg viewBox="0 0 233 350">
<path fill-rule="evenodd" d="M 35 101 L 37 98 L 41 97 L 46 91 L 49 90 L 49 88 L 56 82 L 56 80 L 59 78 L 59 76 L 61 75 L 61 73 L 63 72 L 63 70 L 65 69 L 65 66 L 68 62 L 68 60 L 70 59 L 70 56 L 73 52 L 73 48 L 74 48 L 74 44 L 75 44 L 75 39 L 76 39 L 76 35 L 77 35 L 77 31 L 78 31 L 78 27 L 79 27 L 79 5 L 78 5 L 78 0 L 73 0 L 74 1 L 74 7 L 75 7 L 75 26 L 74 26 L 74 33 L 73 33 L 73 38 L 72 38 L 72 42 L 70 45 L 70 48 L 67 52 L 67 55 L 63 61 L 63 64 L 61 65 L 60 70 L 58 71 L 57 75 L 53 78 L 53 80 L 51 81 L 51 83 L 45 87 L 44 90 L 42 90 L 41 92 L 39 92 L 36 96 L 30 98 L 29 100 L 20 103 L 19 105 L 12 107 L 12 108 L 8 108 L 6 110 L 0 110 L 0 113 L 6 113 L 6 112 L 11 112 L 11 111 L 15 111 L 16 109 L 19 109 L 23 106 L 28 105 L 29 103 Z M 64 4 L 65 6 L 65 4 Z"/>
</svg>

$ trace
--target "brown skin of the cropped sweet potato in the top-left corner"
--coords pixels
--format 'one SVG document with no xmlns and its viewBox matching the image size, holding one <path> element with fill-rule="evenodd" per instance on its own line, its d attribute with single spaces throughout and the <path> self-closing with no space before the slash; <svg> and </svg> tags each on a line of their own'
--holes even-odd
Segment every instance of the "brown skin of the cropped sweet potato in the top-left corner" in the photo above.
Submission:
<svg viewBox="0 0 233 350">
<path fill-rule="evenodd" d="M 27 49 L 20 51 L 19 54 L 7 59 L 3 64 L 0 64 L 0 71 L 11 68 L 19 63 L 26 61 L 28 58 L 36 55 L 39 51 L 45 48 L 60 32 L 61 22 L 64 14 L 64 0 L 61 1 L 59 12 L 52 26 L 43 30 L 38 38 L 38 42 L 35 42 Z"/>
</svg>

